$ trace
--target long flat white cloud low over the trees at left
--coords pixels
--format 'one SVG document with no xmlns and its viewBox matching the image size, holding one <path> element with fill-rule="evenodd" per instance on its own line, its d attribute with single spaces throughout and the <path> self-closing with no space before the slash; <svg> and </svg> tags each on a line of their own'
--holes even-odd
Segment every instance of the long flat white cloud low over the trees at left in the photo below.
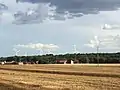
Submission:
<svg viewBox="0 0 120 90">
<path fill-rule="evenodd" d="M 51 51 L 57 50 L 59 48 L 59 46 L 54 44 L 42 44 L 42 43 L 36 43 L 36 44 L 30 43 L 27 45 L 18 44 L 15 45 L 15 47 L 29 48 L 35 50 L 51 50 Z"/>
</svg>

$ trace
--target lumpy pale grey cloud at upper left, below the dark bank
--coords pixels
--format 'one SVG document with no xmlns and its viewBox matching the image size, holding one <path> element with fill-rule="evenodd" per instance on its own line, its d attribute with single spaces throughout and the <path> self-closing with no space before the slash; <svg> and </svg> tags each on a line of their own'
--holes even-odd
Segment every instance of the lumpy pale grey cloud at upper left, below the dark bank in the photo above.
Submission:
<svg viewBox="0 0 120 90">
<path fill-rule="evenodd" d="M 66 20 L 72 18 L 72 15 L 67 11 L 64 14 L 57 13 L 56 7 L 50 6 L 50 3 L 39 3 L 37 7 L 28 8 L 25 12 L 15 12 L 14 18 L 13 24 L 34 24 L 44 20 Z"/>
</svg>

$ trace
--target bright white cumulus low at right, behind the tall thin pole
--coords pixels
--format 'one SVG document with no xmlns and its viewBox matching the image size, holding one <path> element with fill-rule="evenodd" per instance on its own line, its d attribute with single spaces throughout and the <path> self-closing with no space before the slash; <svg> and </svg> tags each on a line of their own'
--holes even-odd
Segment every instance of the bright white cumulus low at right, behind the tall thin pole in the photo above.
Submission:
<svg viewBox="0 0 120 90">
<path fill-rule="evenodd" d="M 90 40 L 88 44 L 85 44 L 87 47 L 96 48 L 99 45 L 100 49 L 120 49 L 120 36 L 108 35 L 99 38 L 99 43 L 97 40 Z"/>
</svg>

